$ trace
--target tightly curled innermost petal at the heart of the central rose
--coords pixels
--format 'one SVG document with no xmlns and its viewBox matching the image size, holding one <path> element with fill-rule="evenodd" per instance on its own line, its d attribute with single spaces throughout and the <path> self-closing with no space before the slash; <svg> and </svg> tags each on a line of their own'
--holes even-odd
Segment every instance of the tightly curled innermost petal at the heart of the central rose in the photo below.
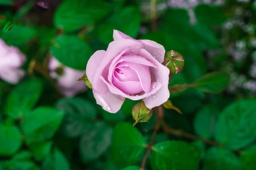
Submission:
<svg viewBox="0 0 256 170">
<path fill-rule="evenodd" d="M 116 77 L 121 82 L 140 82 L 137 72 L 132 70 L 130 67 L 116 68 L 114 77 Z"/>
</svg>

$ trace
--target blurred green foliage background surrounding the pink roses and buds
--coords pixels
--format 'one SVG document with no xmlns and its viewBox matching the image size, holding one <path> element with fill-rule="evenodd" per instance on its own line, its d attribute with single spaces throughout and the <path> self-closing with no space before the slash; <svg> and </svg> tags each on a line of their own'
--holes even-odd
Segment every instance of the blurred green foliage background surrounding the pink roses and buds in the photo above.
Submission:
<svg viewBox="0 0 256 170">
<path fill-rule="evenodd" d="M 169 86 L 183 114 L 164 110 L 172 129 L 160 127 L 145 169 L 255 170 L 256 1 L 171 1 L 156 0 L 151 31 L 150 0 L 45 0 L 49 9 L 0 0 L 0 38 L 26 54 L 26 70 L 49 54 L 84 70 L 113 29 L 180 52 L 185 67 Z M 133 127 L 137 101 L 108 113 L 91 90 L 67 98 L 47 78 L 34 71 L 17 85 L 0 80 L 0 170 L 140 170 L 155 114 Z"/>
</svg>

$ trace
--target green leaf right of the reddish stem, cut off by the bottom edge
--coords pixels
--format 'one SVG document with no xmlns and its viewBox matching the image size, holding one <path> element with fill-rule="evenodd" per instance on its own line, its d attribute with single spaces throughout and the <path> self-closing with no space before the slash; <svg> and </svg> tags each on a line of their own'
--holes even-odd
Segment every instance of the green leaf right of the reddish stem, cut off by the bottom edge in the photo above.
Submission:
<svg viewBox="0 0 256 170">
<path fill-rule="evenodd" d="M 153 145 L 153 170 L 198 170 L 201 156 L 197 147 L 183 141 L 165 141 Z"/>
</svg>

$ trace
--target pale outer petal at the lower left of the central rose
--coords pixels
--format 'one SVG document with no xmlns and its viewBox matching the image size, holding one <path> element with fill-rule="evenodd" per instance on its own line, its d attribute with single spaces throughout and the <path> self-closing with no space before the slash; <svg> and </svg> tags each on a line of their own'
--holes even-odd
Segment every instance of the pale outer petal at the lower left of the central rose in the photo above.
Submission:
<svg viewBox="0 0 256 170">
<path fill-rule="evenodd" d="M 98 105 L 101 105 L 105 111 L 110 113 L 116 113 L 120 110 L 125 98 L 108 91 L 107 93 L 99 93 L 93 89 L 93 96 L 96 99 Z"/>
</svg>

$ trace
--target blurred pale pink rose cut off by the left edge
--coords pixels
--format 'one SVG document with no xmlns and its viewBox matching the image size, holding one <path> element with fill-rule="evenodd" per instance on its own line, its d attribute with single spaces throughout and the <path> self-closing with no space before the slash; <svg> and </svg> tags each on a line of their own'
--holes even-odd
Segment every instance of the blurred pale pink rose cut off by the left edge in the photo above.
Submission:
<svg viewBox="0 0 256 170">
<path fill-rule="evenodd" d="M 20 67 L 26 57 L 16 47 L 8 46 L 0 40 L 0 78 L 11 84 L 17 84 L 25 76 Z"/>
</svg>

